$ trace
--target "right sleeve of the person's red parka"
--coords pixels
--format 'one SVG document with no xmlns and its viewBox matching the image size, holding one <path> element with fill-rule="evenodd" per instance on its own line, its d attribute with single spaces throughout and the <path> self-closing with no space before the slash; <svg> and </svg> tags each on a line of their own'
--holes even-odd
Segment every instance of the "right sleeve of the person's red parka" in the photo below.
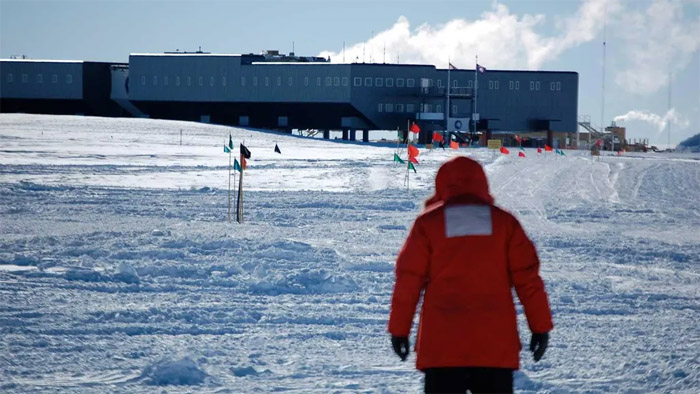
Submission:
<svg viewBox="0 0 700 394">
<path fill-rule="evenodd" d="M 540 260 L 532 241 L 518 221 L 508 241 L 508 269 L 525 316 L 533 333 L 549 332 L 553 327 L 547 292 L 540 277 Z"/>
</svg>

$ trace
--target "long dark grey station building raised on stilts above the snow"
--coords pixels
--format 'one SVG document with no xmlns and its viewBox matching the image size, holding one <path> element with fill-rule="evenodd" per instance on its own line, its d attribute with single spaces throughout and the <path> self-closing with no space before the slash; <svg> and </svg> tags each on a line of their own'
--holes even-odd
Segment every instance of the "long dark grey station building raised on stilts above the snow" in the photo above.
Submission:
<svg viewBox="0 0 700 394">
<path fill-rule="evenodd" d="M 406 130 L 412 122 L 421 127 L 421 142 L 433 130 L 577 129 L 575 72 L 475 74 L 430 65 L 335 64 L 322 58 L 202 52 L 132 54 L 128 66 L 19 60 L 1 64 L 2 112 L 115 116 L 114 111 L 86 109 L 106 111 L 107 97 L 119 103 L 122 115 L 287 131 L 320 129 L 324 136 L 327 130 L 343 130 L 346 139 L 355 139 L 360 130 L 365 140 L 369 130 Z M 68 75 L 73 76 L 70 83 Z M 60 83 L 53 82 L 57 76 Z M 82 109 L 76 110 L 79 102 Z"/>
</svg>

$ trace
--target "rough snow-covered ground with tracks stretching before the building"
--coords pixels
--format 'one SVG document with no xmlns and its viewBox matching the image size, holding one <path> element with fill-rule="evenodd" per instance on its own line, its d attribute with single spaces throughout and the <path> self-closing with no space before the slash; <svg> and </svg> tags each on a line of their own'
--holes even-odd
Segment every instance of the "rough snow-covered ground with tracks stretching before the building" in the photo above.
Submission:
<svg viewBox="0 0 700 394">
<path fill-rule="evenodd" d="M 229 133 L 253 155 L 243 224 Z M 393 153 L 0 115 L 0 391 L 420 392 L 386 333 L 393 261 L 454 154 L 540 252 L 556 328 L 543 361 L 521 353 L 518 392 L 700 390 L 700 155 L 423 149 L 407 191 Z"/>
</svg>

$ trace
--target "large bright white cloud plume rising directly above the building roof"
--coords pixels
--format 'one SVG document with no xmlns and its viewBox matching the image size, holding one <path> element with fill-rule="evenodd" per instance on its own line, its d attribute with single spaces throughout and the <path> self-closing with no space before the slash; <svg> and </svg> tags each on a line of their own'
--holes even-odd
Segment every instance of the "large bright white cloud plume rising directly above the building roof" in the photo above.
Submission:
<svg viewBox="0 0 700 394">
<path fill-rule="evenodd" d="M 487 67 L 537 70 L 565 50 L 593 40 L 603 28 L 604 15 L 619 9 L 619 0 L 587 0 L 559 24 L 561 32 L 553 37 L 536 31 L 546 22 L 544 15 L 518 16 L 497 2 L 477 20 L 454 19 L 437 27 L 423 24 L 411 30 L 401 16 L 391 28 L 347 47 L 345 62 L 395 63 L 400 58 L 401 63 L 446 67 L 449 57 L 457 67 L 467 68 L 478 54 Z M 343 61 L 342 51 L 320 56 Z"/>
</svg>

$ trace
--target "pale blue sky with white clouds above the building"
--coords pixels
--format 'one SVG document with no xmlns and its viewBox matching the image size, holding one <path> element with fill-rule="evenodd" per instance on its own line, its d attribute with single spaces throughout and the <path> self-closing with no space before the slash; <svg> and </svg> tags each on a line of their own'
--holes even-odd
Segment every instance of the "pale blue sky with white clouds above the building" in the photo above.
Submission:
<svg viewBox="0 0 700 394">
<path fill-rule="evenodd" d="M 605 106 L 602 42 L 606 39 Z M 579 115 L 628 138 L 700 132 L 700 0 L 7 1 L 0 57 L 126 62 L 129 53 L 264 49 L 579 73 Z M 372 52 L 372 55 L 370 55 Z M 670 80 L 669 80 L 669 76 Z M 671 109 L 668 106 L 669 83 Z"/>
</svg>

